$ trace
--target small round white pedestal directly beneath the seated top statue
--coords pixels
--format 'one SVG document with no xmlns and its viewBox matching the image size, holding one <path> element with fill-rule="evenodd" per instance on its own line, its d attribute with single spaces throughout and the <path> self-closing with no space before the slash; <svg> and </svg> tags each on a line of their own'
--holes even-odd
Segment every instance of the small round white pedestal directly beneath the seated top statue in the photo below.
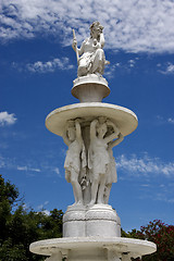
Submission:
<svg viewBox="0 0 174 261">
<path fill-rule="evenodd" d="M 72 88 L 72 95 L 80 102 L 100 102 L 109 96 L 108 82 L 96 74 L 76 78 Z"/>
</svg>

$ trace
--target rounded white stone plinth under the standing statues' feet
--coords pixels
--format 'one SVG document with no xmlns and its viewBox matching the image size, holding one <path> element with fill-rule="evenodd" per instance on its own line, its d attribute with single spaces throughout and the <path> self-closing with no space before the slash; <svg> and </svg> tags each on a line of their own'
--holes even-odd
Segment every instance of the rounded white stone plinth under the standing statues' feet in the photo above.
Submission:
<svg viewBox="0 0 174 261">
<path fill-rule="evenodd" d="M 120 237 L 121 221 L 109 204 L 69 207 L 63 216 L 63 237 Z"/>
</svg>

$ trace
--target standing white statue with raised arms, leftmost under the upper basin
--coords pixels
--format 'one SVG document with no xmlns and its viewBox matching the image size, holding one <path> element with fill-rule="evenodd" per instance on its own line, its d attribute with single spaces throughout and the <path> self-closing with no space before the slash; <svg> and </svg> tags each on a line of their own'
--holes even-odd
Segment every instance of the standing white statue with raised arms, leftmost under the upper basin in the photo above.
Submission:
<svg viewBox="0 0 174 261">
<path fill-rule="evenodd" d="M 64 162 L 65 179 L 73 186 L 75 203 L 83 204 L 83 192 L 78 179 L 82 169 L 86 166 L 86 153 L 78 120 L 69 121 L 63 139 L 69 146 Z"/>
</svg>

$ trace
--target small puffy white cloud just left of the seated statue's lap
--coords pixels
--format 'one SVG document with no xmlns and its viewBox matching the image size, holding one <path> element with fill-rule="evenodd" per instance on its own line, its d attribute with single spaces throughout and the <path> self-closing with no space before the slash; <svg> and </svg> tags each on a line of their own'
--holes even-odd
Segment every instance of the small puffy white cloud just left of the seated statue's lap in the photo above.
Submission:
<svg viewBox="0 0 174 261">
<path fill-rule="evenodd" d="M 69 58 L 55 58 L 52 61 L 48 62 L 35 62 L 26 64 L 26 69 L 33 73 L 47 73 L 54 72 L 57 69 L 59 70 L 71 70 L 74 66 L 70 64 Z"/>
</svg>

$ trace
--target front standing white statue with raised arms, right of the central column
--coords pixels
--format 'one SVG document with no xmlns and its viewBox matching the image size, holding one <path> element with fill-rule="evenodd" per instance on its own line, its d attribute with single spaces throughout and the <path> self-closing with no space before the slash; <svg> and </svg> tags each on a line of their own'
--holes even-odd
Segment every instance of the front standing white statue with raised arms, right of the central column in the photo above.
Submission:
<svg viewBox="0 0 174 261">
<path fill-rule="evenodd" d="M 117 127 L 113 124 L 113 133 L 105 137 L 108 125 L 103 117 L 94 120 L 90 124 L 90 145 L 88 151 L 88 167 L 90 170 L 91 200 L 89 204 L 104 203 L 104 188 L 110 154 L 108 145 L 117 137 Z"/>
</svg>

